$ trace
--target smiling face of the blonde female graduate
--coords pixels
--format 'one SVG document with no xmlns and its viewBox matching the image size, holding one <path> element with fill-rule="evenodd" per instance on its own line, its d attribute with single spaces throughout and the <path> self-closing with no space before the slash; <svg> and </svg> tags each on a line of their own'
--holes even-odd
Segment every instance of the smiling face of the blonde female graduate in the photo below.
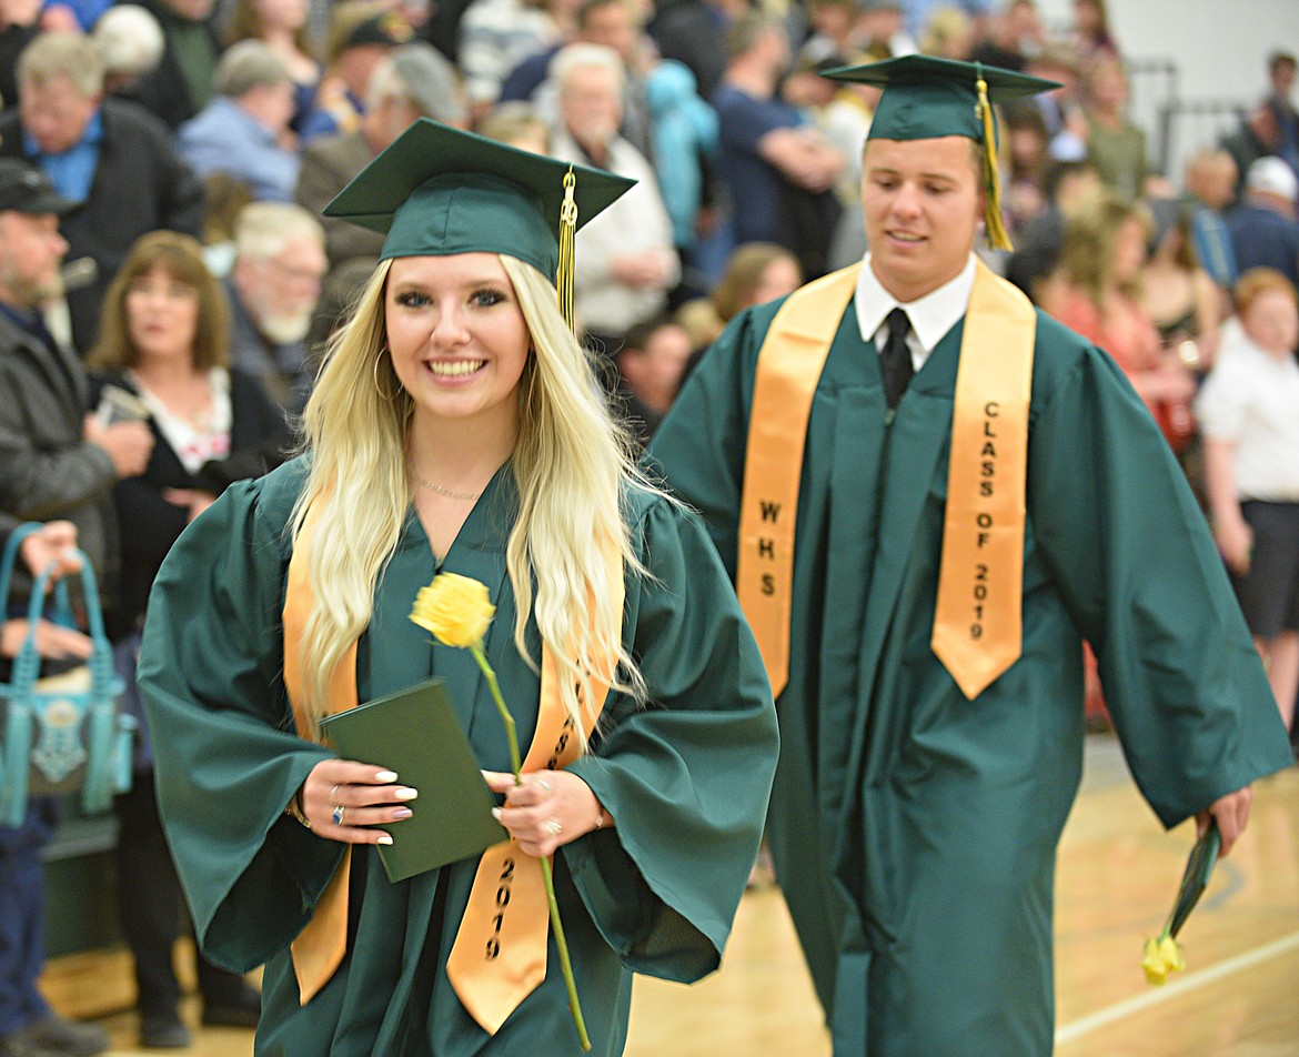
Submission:
<svg viewBox="0 0 1299 1057">
<path fill-rule="evenodd" d="M 417 423 L 518 425 L 527 321 L 494 253 L 397 257 L 383 296 L 392 369 Z"/>
</svg>

